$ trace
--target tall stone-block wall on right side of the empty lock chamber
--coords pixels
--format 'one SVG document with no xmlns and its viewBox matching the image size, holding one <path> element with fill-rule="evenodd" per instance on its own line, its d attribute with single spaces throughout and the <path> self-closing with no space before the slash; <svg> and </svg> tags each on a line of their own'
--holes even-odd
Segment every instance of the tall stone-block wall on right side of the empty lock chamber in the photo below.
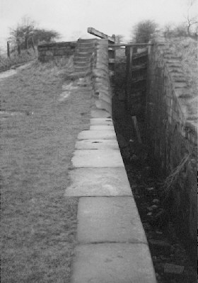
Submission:
<svg viewBox="0 0 198 283">
<path fill-rule="evenodd" d="M 196 256 L 197 100 L 183 74 L 181 58 L 170 52 L 163 38 L 153 40 L 148 50 L 146 123 L 151 152 L 164 176 L 190 154 L 173 186 L 170 211 Z"/>
</svg>

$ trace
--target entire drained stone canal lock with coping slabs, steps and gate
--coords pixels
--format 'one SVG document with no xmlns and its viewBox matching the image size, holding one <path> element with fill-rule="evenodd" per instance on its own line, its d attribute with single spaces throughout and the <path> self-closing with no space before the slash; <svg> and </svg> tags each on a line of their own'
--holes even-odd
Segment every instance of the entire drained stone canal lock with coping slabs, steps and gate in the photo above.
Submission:
<svg viewBox="0 0 198 283">
<path fill-rule="evenodd" d="M 89 32 L 103 39 L 78 40 L 71 74 L 92 93 L 65 191 L 79 197 L 71 282 L 194 283 L 197 132 L 179 59 L 161 38 L 122 49 Z"/>
</svg>

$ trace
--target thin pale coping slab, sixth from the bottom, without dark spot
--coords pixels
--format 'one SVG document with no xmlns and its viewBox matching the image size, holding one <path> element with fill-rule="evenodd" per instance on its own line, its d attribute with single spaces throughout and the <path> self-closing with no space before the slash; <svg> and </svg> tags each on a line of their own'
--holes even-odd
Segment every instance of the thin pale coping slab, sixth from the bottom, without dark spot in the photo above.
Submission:
<svg viewBox="0 0 198 283">
<path fill-rule="evenodd" d="M 116 139 L 115 131 L 112 130 L 86 130 L 78 134 L 78 139 Z"/>
</svg>

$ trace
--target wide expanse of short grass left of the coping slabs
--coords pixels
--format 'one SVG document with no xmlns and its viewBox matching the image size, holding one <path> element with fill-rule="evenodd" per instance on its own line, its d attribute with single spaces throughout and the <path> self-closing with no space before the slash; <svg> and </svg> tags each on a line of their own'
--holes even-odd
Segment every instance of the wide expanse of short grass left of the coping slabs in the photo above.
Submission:
<svg viewBox="0 0 198 283">
<path fill-rule="evenodd" d="M 71 69 L 71 60 L 36 62 L 0 81 L 4 283 L 69 282 L 78 199 L 64 190 L 90 109 L 86 92 L 59 100 Z"/>
</svg>

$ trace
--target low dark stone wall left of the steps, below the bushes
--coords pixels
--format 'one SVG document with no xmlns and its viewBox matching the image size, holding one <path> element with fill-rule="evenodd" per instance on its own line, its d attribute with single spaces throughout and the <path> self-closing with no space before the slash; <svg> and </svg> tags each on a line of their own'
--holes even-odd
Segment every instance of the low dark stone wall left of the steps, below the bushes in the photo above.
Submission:
<svg viewBox="0 0 198 283">
<path fill-rule="evenodd" d="M 74 54 L 76 42 L 50 42 L 38 45 L 38 59 L 40 62 L 48 62 L 57 57 L 68 57 Z"/>
</svg>

